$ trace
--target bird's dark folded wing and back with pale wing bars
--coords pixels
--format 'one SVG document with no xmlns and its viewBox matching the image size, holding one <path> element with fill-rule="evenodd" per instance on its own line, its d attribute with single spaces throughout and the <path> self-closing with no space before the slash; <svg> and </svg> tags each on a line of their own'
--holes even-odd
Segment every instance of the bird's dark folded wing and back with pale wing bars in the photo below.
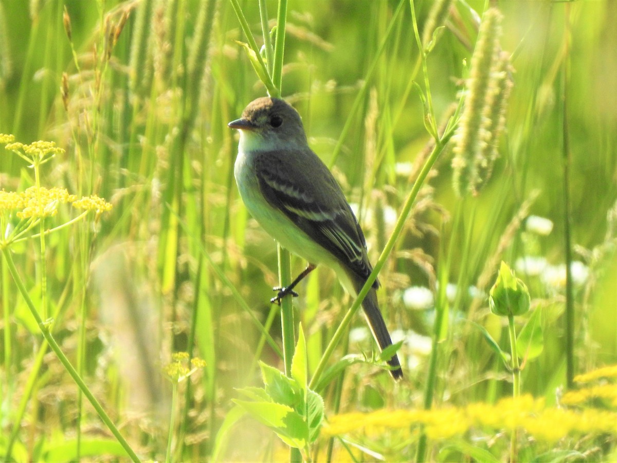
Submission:
<svg viewBox="0 0 617 463">
<path fill-rule="evenodd" d="M 301 162 L 289 162 L 290 156 L 299 157 L 296 161 Z M 366 280 L 372 267 L 362 229 L 341 187 L 315 153 L 308 148 L 262 152 L 256 173 L 262 194 L 271 206 Z M 375 287 L 378 285 L 375 282 Z"/>
</svg>

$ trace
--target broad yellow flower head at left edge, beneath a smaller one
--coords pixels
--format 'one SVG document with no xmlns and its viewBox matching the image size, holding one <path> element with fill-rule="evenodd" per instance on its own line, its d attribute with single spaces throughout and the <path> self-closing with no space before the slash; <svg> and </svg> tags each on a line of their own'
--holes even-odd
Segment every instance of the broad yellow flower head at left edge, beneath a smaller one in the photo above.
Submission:
<svg viewBox="0 0 617 463">
<path fill-rule="evenodd" d="M 110 211 L 112 205 L 96 195 L 77 199 L 75 194 L 69 194 L 65 188 L 36 188 L 31 186 L 21 193 L 0 190 L 0 212 L 17 211 L 17 217 L 51 217 L 58 213 L 59 204 L 72 203 L 78 209 L 96 211 L 101 214 Z"/>
</svg>

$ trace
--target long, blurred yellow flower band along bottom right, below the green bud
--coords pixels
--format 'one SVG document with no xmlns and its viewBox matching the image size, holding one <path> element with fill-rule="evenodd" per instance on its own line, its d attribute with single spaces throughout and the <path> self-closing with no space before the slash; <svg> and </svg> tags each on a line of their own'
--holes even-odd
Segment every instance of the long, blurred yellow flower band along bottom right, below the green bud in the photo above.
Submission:
<svg viewBox="0 0 617 463">
<path fill-rule="evenodd" d="M 322 432 L 326 436 L 350 432 L 368 435 L 424 425 L 434 440 L 460 436 L 471 428 L 494 431 L 526 430 L 539 441 L 548 443 L 569 434 L 617 433 L 617 414 L 595 409 L 574 411 L 546 407 L 544 400 L 530 395 L 502 399 L 496 404 L 476 403 L 466 407 L 432 410 L 378 410 L 370 413 L 342 414 L 331 417 Z"/>
</svg>

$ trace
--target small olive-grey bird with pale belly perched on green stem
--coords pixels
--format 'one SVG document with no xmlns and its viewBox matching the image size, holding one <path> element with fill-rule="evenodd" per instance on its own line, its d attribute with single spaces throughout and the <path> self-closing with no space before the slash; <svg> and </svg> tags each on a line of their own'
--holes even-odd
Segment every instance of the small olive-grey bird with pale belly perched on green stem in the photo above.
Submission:
<svg viewBox="0 0 617 463">
<path fill-rule="evenodd" d="M 240 133 L 234 177 L 242 201 L 261 227 L 283 248 L 309 262 L 291 285 L 278 290 L 271 302 L 291 294 L 318 264 L 334 270 L 346 290 L 357 296 L 371 267 L 362 228 L 341 186 L 312 151 L 300 114 L 280 98 L 250 102 L 241 118 L 228 123 Z M 371 286 L 362 309 L 379 349 L 392 344 Z M 399 357 L 387 360 L 392 378 L 403 372 Z"/>
</svg>

